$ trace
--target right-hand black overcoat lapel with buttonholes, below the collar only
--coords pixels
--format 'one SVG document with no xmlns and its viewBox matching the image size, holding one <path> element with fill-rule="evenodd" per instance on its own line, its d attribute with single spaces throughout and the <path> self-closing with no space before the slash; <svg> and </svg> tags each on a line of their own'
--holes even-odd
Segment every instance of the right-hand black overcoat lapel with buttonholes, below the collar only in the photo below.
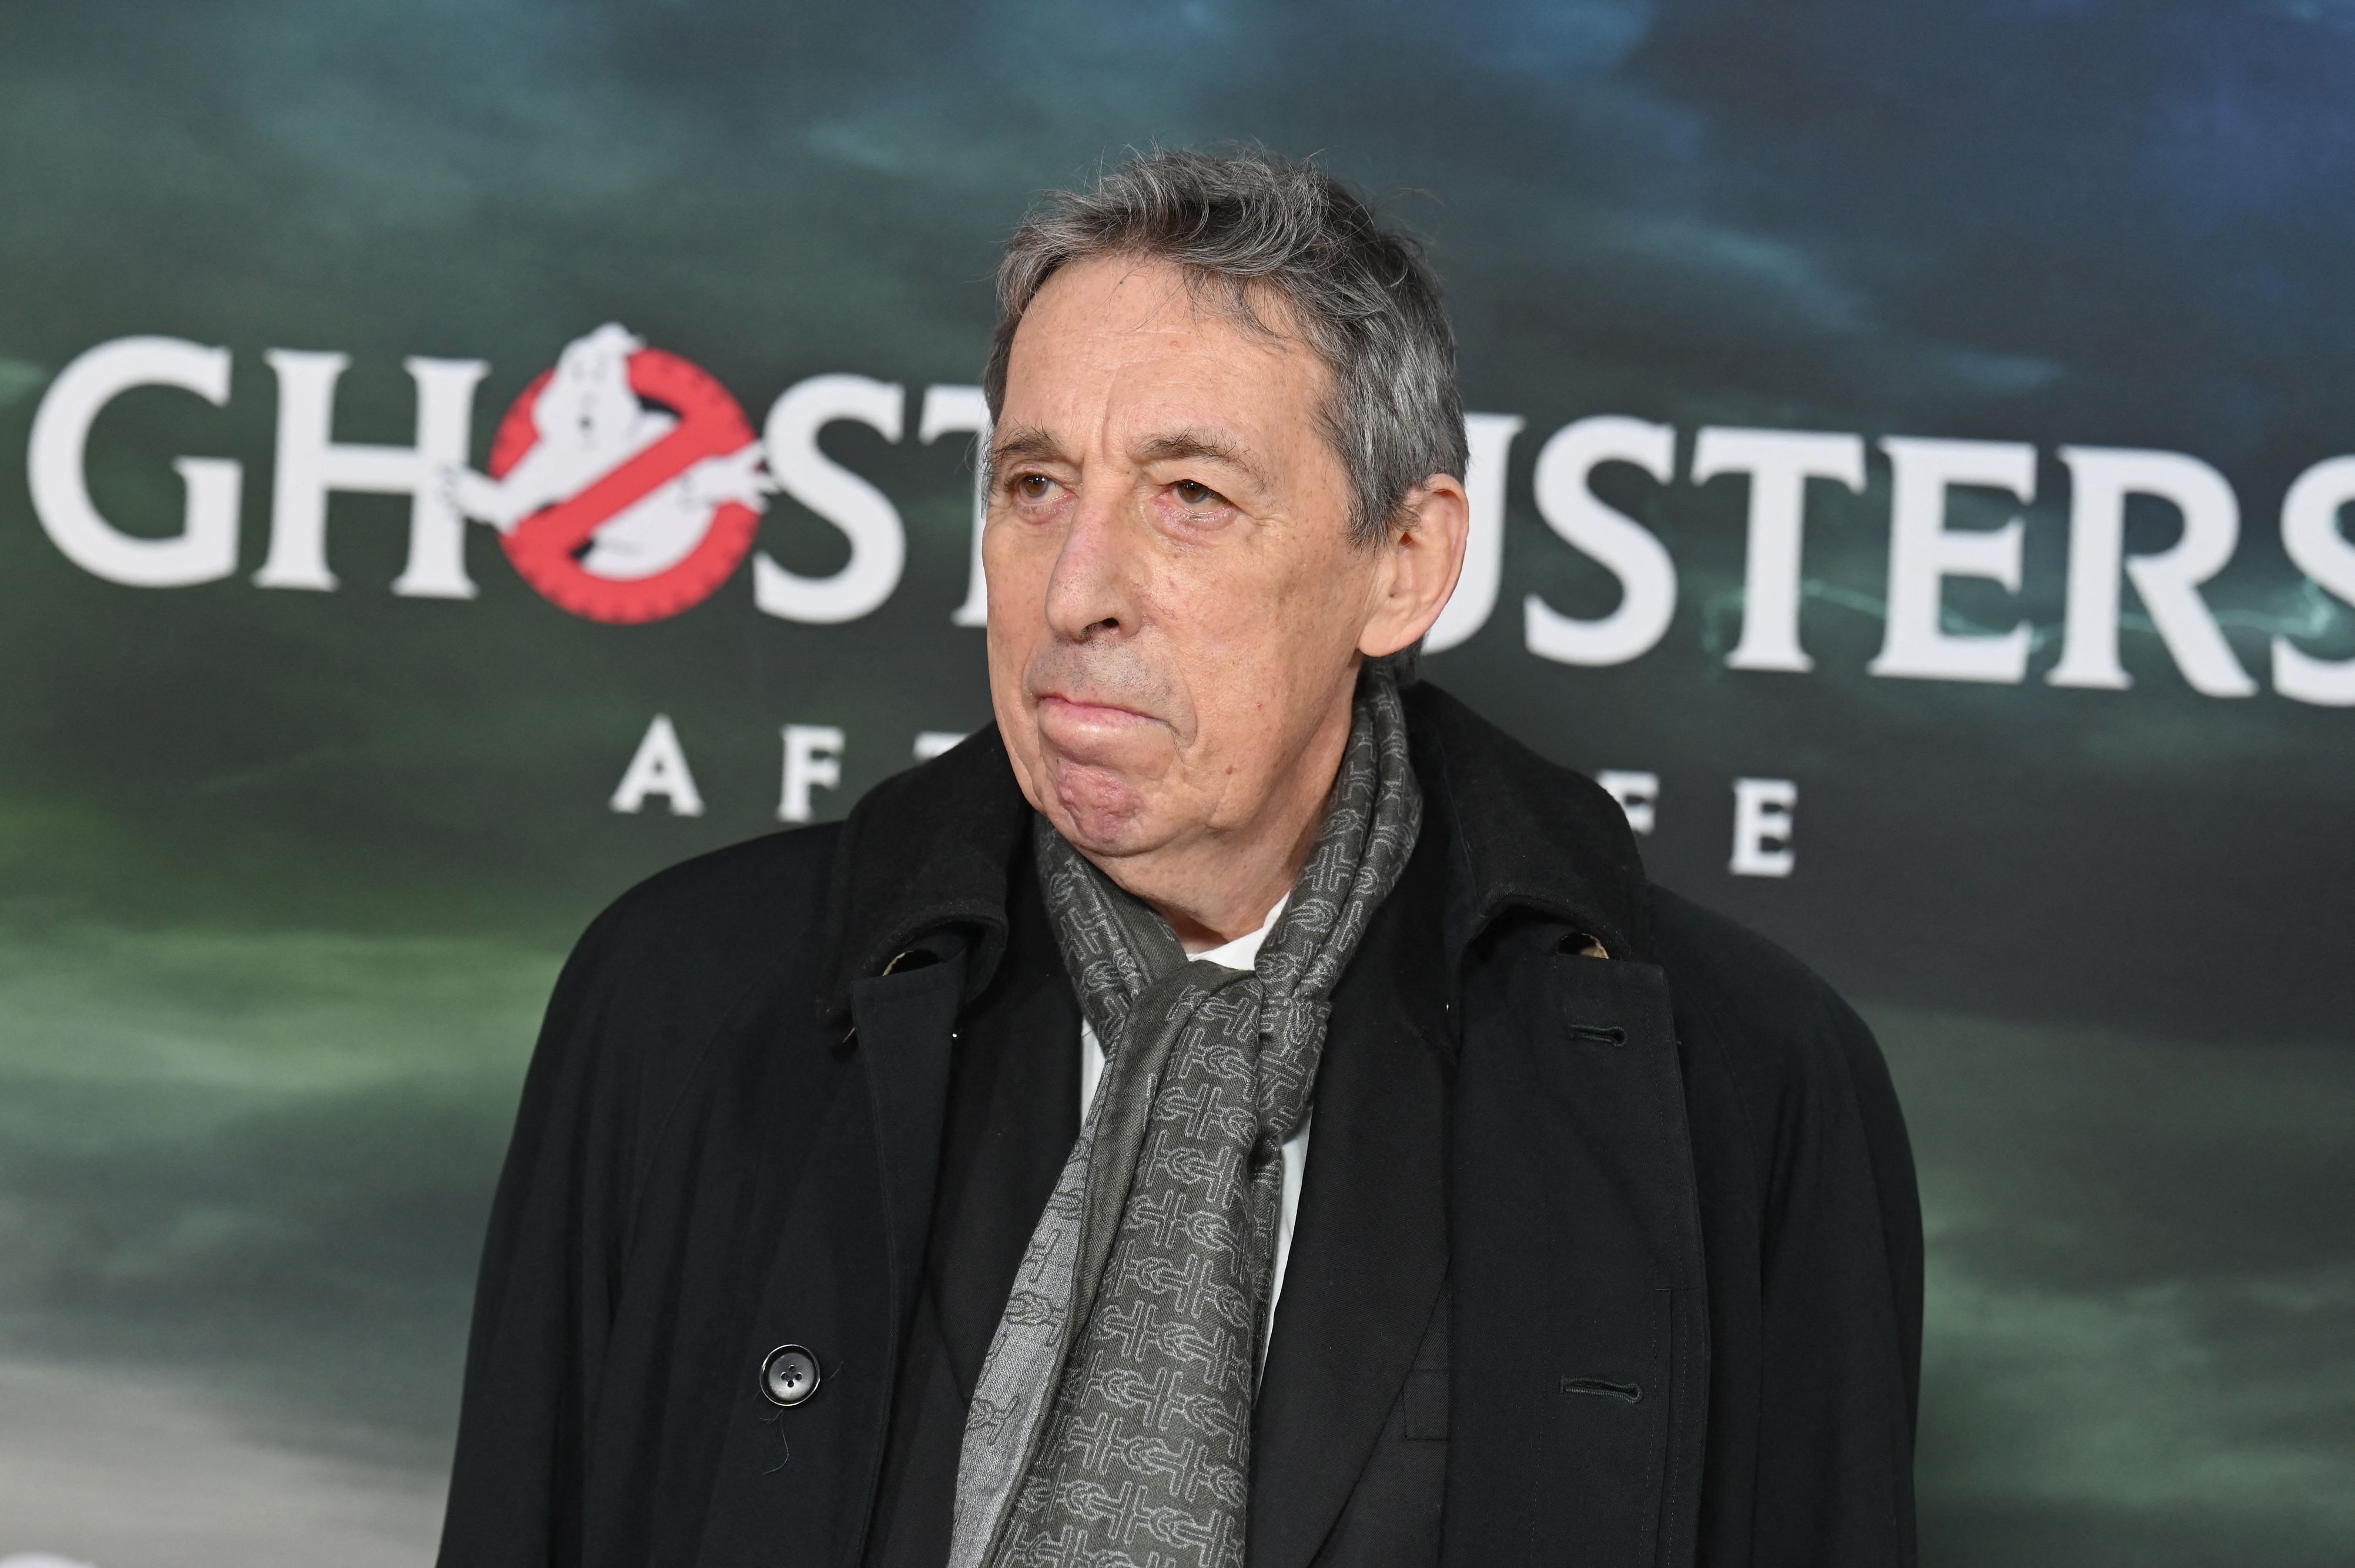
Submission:
<svg viewBox="0 0 2355 1568">
<path fill-rule="evenodd" d="M 1667 984 L 1540 925 L 1467 986 L 1444 1561 L 1691 1561 L 1700 1222 Z"/>
</svg>

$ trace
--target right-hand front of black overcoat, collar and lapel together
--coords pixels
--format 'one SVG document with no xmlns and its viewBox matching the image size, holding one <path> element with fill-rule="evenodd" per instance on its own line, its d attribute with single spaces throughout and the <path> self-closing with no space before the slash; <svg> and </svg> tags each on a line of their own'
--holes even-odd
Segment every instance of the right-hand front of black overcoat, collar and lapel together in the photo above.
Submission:
<svg viewBox="0 0 2355 1568">
<path fill-rule="evenodd" d="M 1592 779 L 1446 692 L 1408 723 L 1460 1024 L 1444 1561 L 1689 1563 L 1710 1335 L 1641 857 Z"/>
</svg>

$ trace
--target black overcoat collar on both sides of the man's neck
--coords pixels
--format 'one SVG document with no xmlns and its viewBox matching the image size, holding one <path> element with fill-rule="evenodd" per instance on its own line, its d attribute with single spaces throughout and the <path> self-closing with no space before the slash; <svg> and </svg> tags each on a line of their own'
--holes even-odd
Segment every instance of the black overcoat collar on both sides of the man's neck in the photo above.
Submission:
<svg viewBox="0 0 2355 1568">
<path fill-rule="evenodd" d="M 1429 683 L 1404 697 L 1422 831 L 1448 838 L 1451 956 L 1521 913 L 1648 961 L 1644 862 L 1618 800 Z M 1008 871 L 1029 819 L 996 725 L 867 791 L 834 852 L 822 1015 L 848 1017 L 853 982 L 937 935 L 970 944 L 966 994 L 977 996 L 1006 951 Z"/>
</svg>

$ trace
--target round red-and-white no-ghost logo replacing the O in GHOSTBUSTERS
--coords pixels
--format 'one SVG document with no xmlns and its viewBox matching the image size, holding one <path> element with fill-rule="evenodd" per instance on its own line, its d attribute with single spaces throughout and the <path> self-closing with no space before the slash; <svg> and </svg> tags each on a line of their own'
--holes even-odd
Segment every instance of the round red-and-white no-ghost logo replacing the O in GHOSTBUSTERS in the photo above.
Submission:
<svg viewBox="0 0 2355 1568">
<path fill-rule="evenodd" d="M 608 323 L 523 388 L 490 473 L 450 499 L 499 530 L 516 572 L 596 622 L 659 622 L 751 551 L 775 480 L 742 405 L 702 367 Z"/>
</svg>

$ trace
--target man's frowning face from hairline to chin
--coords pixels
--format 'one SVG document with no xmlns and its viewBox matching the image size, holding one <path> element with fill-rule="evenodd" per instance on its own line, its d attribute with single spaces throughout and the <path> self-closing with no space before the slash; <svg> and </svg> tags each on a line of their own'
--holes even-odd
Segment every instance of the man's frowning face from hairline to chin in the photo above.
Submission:
<svg viewBox="0 0 2355 1568">
<path fill-rule="evenodd" d="M 989 690 L 1022 793 L 1081 850 L 1248 833 L 1324 796 L 1300 763 L 1338 756 L 1394 574 L 1349 542 L 1328 393 L 1307 344 L 1166 264 L 1069 266 L 1024 313 L 982 534 Z"/>
</svg>

